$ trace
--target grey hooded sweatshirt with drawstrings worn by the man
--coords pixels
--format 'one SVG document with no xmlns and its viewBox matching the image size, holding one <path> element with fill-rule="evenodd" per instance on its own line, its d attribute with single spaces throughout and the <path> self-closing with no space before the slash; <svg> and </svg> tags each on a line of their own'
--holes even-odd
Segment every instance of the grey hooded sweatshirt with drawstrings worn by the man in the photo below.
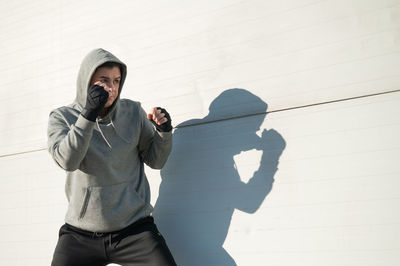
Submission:
<svg viewBox="0 0 400 266">
<path fill-rule="evenodd" d="M 126 65 L 96 49 L 81 64 L 75 101 L 50 113 L 48 150 L 67 171 L 65 222 L 92 232 L 120 230 L 149 216 L 150 188 L 144 165 L 161 169 L 172 146 L 172 133 L 154 129 L 140 103 L 118 98 L 107 115 L 91 122 L 80 113 L 96 68 L 105 62 Z"/>
</svg>

